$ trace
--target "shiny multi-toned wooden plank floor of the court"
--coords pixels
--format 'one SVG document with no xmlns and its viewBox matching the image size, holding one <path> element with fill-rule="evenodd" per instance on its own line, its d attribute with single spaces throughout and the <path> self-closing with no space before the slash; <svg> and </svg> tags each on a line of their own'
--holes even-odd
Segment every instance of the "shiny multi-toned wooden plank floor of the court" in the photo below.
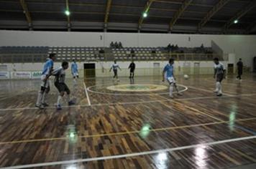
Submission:
<svg viewBox="0 0 256 169">
<path fill-rule="evenodd" d="M 38 110 L 39 81 L 1 80 L 0 168 L 255 168 L 256 74 L 225 79 L 223 97 L 210 76 L 177 81 L 188 89 L 170 100 L 168 90 L 106 90 L 110 78 L 68 79 L 76 105 L 57 111 L 55 87 Z"/>
</svg>

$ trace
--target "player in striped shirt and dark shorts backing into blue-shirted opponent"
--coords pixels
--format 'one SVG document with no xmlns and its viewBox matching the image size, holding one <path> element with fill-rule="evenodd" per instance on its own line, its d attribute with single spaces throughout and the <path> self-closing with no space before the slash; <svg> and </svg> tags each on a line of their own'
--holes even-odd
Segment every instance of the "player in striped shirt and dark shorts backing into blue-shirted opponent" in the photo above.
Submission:
<svg viewBox="0 0 256 169">
<path fill-rule="evenodd" d="M 57 100 L 57 110 L 61 110 L 61 102 L 63 100 L 63 96 L 65 95 L 65 92 L 68 96 L 68 105 L 74 105 L 75 102 L 73 100 L 70 100 L 70 90 L 65 84 L 65 69 L 68 69 L 68 62 L 63 62 L 61 64 L 61 67 L 58 67 L 57 69 L 54 69 L 52 71 L 52 75 L 55 76 L 54 85 L 60 92 L 60 95 L 58 96 Z"/>
</svg>

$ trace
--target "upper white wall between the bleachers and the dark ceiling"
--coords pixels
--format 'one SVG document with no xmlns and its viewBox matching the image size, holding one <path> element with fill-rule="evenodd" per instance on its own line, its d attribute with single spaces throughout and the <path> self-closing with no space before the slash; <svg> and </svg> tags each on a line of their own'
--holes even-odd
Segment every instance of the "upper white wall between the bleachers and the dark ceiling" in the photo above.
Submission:
<svg viewBox="0 0 256 169">
<path fill-rule="evenodd" d="M 164 47 L 169 43 L 180 47 L 201 44 L 210 47 L 211 40 L 224 53 L 234 53 L 236 60 L 241 57 L 245 65 L 252 67 L 252 57 L 256 56 L 256 36 L 253 35 L 0 31 L 0 46 L 108 47 L 111 41 L 117 41 L 124 47 Z"/>
</svg>

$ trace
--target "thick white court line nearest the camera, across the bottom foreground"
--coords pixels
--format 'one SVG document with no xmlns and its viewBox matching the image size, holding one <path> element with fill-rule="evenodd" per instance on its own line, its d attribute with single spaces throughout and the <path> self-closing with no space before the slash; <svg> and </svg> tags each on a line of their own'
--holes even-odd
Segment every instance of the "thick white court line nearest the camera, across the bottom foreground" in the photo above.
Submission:
<svg viewBox="0 0 256 169">
<path fill-rule="evenodd" d="M 182 146 L 182 147 L 178 147 L 178 148 L 166 148 L 166 149 L 160 149 L 160 150 L 145 151 L 145 152 L 140 152 L 140 153 L 129 153 L 129 154 L 123 154 L 123 155 L 109 155 L 109 156 L 103 156 L 103 157 L 99 157 L 99 158 L 83 158 L 83 159 L 77 159 L 77 160 L 55 161 L 55 162 L 49 162 L 49 163 L 16 165 L 16 166 L 5 167 L 5 168 L 0 168 L 0 169 L 36 168 L 36 167 L 44 167 L 44 166 L 49 166 L 49 165 L 68 165 L 68 164 L 74 164 L 74 163 L 85 163 L 85 162 L 90 162 L 90 161 L 112 160 L 112 159 L 118 159 L 118 158 L 131 158 L 134 156 L 166 153 L 166 152 L 177 151 L 177 150 L 198 148 L 201 146 L 219 145 L 219 144 L 224 144 L 224 143 L 232 143 L 232 142 L 237 142 L 237 141 L 242 141 L 242 140 L 251 140 L 251 139 L 256 139 L 256 135 L 248 136 L 248 137 L 237 137 L 237 138 L 233 138 L 233 139 L 220 140 L 220 141 L 215 141 L 215 142 L 210 142 L 210 143 L 186 145 L 186 146 Z"/>
</svg>

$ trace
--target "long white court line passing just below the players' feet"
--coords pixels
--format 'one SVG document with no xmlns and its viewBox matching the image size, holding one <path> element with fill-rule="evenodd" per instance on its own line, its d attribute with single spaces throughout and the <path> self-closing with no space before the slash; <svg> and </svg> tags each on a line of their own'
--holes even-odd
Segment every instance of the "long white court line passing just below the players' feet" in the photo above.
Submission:
<svg viewBox="0 0 256 169">
<path fill-rule="evenodd" d="M 182 98 L 182 99 L 174 99 L 174 100 L 204 100 L 204 99 L 221 99 L 221 98 L 229 98 L 229 97 L 244 97 L 244 96 L 256 96 L 256 93 L 252 94 L 244 94 L 244 95 L 232 95 L 232 96 L 210 96 L 210 97 L 191 97 L 191 98 Z M 91 106 L 114 106 L 114 105 L 136 105 L 142 103 L 150 103 L 150 102 L 172 102 L 173 100 L 149 100 L 149 101 L 141 101 L 141 102 L 113 102 L 113 103 L 99 103 L 93 105 L 72 105 L 72 106 L 63 106 L 63 108 L 74 108 L 74 107 L 91 107 Z M 56 109 L 56 107 L 47 107 L 44 110 Z M 9 109 L 0 109 L 0 111 L 8 111 L 8 110 L 39 110 L 37 107 L 19 107 L 19 108 L 9 108 Z"/>
</svg>

